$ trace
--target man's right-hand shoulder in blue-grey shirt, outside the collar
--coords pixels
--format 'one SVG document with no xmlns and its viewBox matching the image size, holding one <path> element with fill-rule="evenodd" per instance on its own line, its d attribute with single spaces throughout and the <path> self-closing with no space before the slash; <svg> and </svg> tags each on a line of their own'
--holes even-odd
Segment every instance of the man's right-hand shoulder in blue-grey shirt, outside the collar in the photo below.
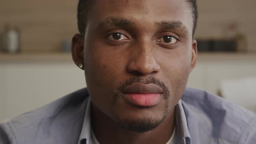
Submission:
<svg viewBox="0 0 256 144">
<path fill-rule="evenodd" d="M 181 99 L 189 131 L 228 144 L 253 144 L 256 141 L 255 113 L 195 88 L 186 88 Z M 192 133 L 191 137 L 197 137 L 196 134 Z"/>
</svg>

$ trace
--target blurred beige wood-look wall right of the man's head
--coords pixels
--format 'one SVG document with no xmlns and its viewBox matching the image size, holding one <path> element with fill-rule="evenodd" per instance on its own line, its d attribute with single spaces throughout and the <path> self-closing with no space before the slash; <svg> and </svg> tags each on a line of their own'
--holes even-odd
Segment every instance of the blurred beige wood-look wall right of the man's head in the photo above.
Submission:
<svg viewBox="0 0 256 144">
<path fill-rule="evenodd" d="M 247 49 L 256 52 L 256 0 L 197 0 L 199 19 L 196 38 L 219 38 L 230 23 L 247 37 Z M 224 32 L 224 33 L 223 33 Z"/>
</svg>

